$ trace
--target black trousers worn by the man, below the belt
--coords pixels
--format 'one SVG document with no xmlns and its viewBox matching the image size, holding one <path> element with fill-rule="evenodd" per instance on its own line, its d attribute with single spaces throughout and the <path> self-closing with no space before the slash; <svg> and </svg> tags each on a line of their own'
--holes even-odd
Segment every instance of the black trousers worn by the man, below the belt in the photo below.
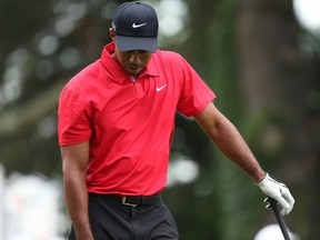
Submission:
<svg viewBox="0 0 320 240">
<path fill-rule="evenodd" d="M 178 240 L 178 227 L 161 201 L 129 207 L 103 196 L 89 196 L 89 218 L 94 240 Z M 69 240 L 76 240 L 73 228 Z"/>
</svg>

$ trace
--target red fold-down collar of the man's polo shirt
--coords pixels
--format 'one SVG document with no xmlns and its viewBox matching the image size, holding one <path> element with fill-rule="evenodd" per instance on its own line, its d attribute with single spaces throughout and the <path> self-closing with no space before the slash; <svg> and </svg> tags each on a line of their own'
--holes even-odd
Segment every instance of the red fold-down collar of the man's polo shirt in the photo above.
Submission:
<svg viewBox="0 0 320 240">
<path fill-rule="evenodd" d="M 158 50 L 159 51 L 159 50 Z M 104 69 L 113 77 L 116 81 L 122 83 L 123 81 L 129 79 L 129 74 L 122 69 L 122 67 L 112 58 L 112 53 L 114 52 L 114 43 L 108 43 L 102 53 L 100 61 Z M 157 54 L 157 53 L 153 53 Z M 143 76 L 151 76 L 156 77 L 159 76 L 158 68 L 154 62 L 154 56 L 152 54 L 149 63 L 147 64 L 146 69 L 141 72 L 140 77 Z M 130 80 L 131 81 L 131 80 Z"/>
</svg>

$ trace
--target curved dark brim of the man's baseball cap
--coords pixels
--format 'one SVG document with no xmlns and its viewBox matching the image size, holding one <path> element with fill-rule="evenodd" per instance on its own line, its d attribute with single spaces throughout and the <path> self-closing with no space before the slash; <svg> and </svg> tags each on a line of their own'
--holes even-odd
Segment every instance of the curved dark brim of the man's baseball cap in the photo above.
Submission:
<svg viewBox="0 0 320 240">
<path fill-rule="evenodd" d="M 158 50 L 157 38 L 116 36 L 116 43 L 120 51 L 143 50 L 157 52 Z"/>
</svg>

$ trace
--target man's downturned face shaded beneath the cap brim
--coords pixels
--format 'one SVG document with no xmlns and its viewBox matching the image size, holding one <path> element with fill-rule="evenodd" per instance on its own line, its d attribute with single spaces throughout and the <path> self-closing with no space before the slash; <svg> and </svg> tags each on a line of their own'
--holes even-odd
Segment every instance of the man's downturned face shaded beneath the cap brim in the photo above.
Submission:
<svg viewBox="0 0 320 240">
<path fill-rule="evenodd" d="M 122 66 L 130 76 L 139 76 L 152 57 L 152 52 L 133 50 L 120 51 L 116 47 L 113 58 Z"/>
</svg>

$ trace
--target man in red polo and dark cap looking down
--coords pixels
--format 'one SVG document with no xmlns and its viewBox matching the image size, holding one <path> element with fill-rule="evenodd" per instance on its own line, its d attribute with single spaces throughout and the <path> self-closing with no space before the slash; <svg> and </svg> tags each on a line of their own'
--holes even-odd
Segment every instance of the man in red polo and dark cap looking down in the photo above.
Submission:
<svg viewBox="0 0 320 240">
<path fill-rule="evenodd" d="M 176 111 L 193 117 L 261 190 L 291 211 L 288 188 L 259 166 L 216 94 L 178 53 L 158 50 L 158 18 L 143 2 L 119 6 L 101 58 L 59 101 L 59 144 L 70 239 L 178 239 L 161 201 Z"/>
</svg>

